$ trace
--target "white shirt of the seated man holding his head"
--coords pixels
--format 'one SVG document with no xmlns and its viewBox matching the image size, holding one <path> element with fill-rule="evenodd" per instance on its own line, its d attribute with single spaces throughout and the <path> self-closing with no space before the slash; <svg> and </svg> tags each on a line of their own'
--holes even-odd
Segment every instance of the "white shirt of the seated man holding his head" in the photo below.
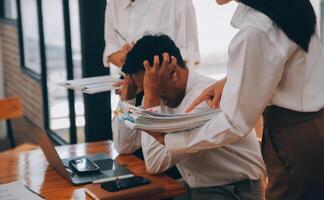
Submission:
<svg viewBox="0 0 324 200">
<path fill-rule="evenodd" d="M 181 104 L 177 108 L 162 105 L 161 111 L 170 114 L 184 113 L 190 103 L 200 95 L 201 88 L 214 81 L 190 71 L 186 94 Z M 207 110 L 209 107 L 204 103 L 194 111 Z M 217 129 L 216 125 L 214 128 Z M 245 179 L 258 180 L 266 174 L 254 130 L 240 142 L 223 148 L 196 153 L 177 153 L 168 151 L 166 146 L 145 132 L 128 129 L 115 117 L 113 139 L 115 148 L 121 154 L 130 154 L 142 147 L 146 168 L 150 173 L 162 173 L 176 165 L 191 188 L 220 186 Z"/>
</svg>

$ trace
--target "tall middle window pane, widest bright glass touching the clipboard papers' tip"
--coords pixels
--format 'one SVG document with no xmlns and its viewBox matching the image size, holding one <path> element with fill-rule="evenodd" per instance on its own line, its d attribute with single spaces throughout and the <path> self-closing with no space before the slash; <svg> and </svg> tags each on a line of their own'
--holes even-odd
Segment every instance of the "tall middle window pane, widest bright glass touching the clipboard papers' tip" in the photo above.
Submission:
<svg viewBox="0 0 324 200">
<path fill-rule="evenodd" d="M 61 0 L 43 0 L 44 39 L 50 130 L 70 141 L 67 90 L 57 83 L 67 78 L 63 7 Z"/>
</svg>

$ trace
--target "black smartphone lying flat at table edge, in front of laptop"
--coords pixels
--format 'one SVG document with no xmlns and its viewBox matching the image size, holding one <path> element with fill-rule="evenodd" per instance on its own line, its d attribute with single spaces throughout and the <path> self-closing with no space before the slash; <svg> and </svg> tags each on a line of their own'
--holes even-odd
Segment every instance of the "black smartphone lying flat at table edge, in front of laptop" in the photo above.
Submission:
<svg viewBox="0 0 324 200">
<path fill-rule="evenodd" d="M 115 192 L 115 191 L 120 191 L 123 189 L 132 188 L 140 185 L 146 185 L 149 183 L 151 183 L 151 181 L 144 177 L 134 176 L 127 179 L 118 179 L 115 181 L 102 183 L 101 188 L 109 192 Z"/>
</svg>

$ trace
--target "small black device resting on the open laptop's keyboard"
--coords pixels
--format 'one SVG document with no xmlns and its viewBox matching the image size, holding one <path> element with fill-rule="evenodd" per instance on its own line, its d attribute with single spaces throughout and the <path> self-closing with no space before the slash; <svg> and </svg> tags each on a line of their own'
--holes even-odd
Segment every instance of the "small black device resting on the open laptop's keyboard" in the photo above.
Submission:
<svg viewBox="0 0 324 200">
<path fill-rule="evenodd" d="M 70 160 L 69 165 L 74 172 L 81 175 L 100 171 L 98 165 L 96 165 L 88 158 Z"/>
</svg>

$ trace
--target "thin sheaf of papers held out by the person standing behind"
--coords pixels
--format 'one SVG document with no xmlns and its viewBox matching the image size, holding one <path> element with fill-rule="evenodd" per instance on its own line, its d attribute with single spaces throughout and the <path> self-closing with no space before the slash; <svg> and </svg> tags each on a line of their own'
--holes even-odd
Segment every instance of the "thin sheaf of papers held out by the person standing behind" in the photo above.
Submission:
<svg viewBox="0 0 324 200">
<path fill-rule="evenodd" d="M 83 78 L 59 83 L 59 85 L 68 89 L 81 91 L 87 94 L 96 94 L 117 89 L 113 85 L 120 81 L 111 76 L 97 76 L 92 78 Z"/>
</svg>

